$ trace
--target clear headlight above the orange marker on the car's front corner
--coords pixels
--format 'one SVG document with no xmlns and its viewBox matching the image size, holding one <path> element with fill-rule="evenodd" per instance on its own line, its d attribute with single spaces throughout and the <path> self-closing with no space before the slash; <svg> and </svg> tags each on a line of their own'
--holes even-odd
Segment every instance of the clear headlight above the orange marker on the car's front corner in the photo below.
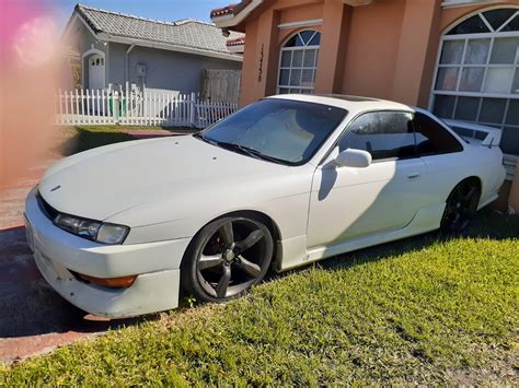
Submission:
<svg viewBox="0 0 519 388">
<path fill-rule="evenodd" d="M 104 224 L 68 214 L 56 215 L 54 224 L 77 236 L 112 245 L 123 244 L 129 232 L 128 226 Z"/>
</svg>

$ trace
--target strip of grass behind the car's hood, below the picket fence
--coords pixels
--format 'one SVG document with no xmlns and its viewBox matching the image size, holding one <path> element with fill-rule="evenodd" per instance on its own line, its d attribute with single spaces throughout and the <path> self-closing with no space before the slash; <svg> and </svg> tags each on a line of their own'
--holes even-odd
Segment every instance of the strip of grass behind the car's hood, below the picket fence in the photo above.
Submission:
<svg viewBox="0 0 519 388">
<path fill-rule="evenodd" d="M 137 127 L 137 126 L 76 126 L 58 128 L 57 151 L 65 155 L 94 149 L 96 146 L 136 140 L 127 130 L 158 130 L 191 133 L 193 128 L 187 127 Z"/>
</svg>

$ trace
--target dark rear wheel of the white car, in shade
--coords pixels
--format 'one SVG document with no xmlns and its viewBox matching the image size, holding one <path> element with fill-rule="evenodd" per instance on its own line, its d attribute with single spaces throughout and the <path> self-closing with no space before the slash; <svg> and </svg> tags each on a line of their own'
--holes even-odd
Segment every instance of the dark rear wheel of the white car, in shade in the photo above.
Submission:
<svg viewBox="0 0 519 388">
<path fill-rule="evenodd" d="M 473 180 L 463 180 L 454 187 L 446 202 L 440 230 L 461 233 L 470 223 L 480 202 L 481 189 Z"/>
</svg>

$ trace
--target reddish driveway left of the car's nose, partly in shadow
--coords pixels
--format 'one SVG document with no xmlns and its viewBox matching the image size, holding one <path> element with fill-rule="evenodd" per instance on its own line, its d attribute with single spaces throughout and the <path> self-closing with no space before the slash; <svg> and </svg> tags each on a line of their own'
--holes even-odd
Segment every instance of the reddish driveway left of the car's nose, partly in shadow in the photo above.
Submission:
<svg viewBox="0 0 519 388">
<path fill-rule="evenodd" d="M 39 274 L 25 240 L 24 201 L 42 173 L 0 192 L 0 362 L 10 363 L 50 351 L 77 339 L 136 320 L 99 321 L 62 299 Z"/>
</svg>

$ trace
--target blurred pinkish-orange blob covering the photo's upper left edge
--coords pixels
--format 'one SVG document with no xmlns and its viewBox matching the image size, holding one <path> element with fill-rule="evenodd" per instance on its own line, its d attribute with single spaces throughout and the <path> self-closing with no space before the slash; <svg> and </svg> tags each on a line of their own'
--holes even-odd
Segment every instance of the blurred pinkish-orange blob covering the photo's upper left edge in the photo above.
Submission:
<svg viewBox="0 0 519 388">
<path fill-rule="evenodd" d="M 53 10 L 41 1 L 0 2 L 0 192 L 34 167 L 53 139 L 60 56 Z"/>
</svg>

